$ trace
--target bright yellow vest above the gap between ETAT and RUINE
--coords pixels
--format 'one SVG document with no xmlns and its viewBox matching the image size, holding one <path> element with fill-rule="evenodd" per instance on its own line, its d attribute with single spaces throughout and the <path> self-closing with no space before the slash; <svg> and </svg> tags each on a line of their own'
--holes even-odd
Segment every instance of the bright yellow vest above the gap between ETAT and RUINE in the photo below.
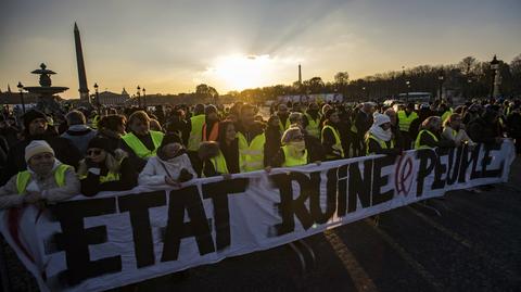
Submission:
<svg viewBox="0 0 521 292">
<path fill-rule="evenodd" d="M 239 139 L 239 163 L 242 172 L 254 172 L 264 168 L 264 144 L 266 136 L 263 134 L 255 136 L 249 144 L 242 132 L 237 134 Z"/>
</svg>

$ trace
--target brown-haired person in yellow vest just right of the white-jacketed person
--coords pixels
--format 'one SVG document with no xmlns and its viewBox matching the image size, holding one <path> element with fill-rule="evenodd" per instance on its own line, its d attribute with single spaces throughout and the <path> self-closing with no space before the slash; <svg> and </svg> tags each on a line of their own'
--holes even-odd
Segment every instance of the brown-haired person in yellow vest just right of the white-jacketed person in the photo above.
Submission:
<svg viewBox="0 0 521 292">
<path fill-rule="evenodd" d="M 202 177 L 215 177 L 220 175 L 228 177 L 230 174 L 225 155 L 220 151 L 217 142 L 202 142 L 199 148 L 199 157 L 203 162 Z"/>
</svg>

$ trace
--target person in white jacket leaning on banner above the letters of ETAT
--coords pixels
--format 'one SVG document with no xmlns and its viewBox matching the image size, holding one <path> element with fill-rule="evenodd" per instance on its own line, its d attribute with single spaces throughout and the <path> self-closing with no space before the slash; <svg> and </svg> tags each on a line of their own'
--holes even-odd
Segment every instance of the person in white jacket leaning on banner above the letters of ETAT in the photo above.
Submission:
<svg viewBox="0 0 521 292">
<path fill-rule="evenodd" d="M 152 156 L 139 174 L 140 186 L 176 186 L 180 182 L 196 178 L 190 158 L 181 144 L 181 139 L 176 135 L 166 136 L 160 148 L 157 156 Z"/>
</svg>

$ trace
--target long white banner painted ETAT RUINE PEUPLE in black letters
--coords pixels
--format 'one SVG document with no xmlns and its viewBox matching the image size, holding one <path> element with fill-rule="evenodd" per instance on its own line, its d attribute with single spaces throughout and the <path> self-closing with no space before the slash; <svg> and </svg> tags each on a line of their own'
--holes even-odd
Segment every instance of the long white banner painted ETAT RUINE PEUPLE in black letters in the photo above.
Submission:
<svg viewBox="0 0 521 292">
<path fill-rule="evenodd" d="M 0 231 L 41 291 L 101 291 L 507 181 L 513 153 L 507 140 L 77 195 L 43 211 L 1 212 Z"/>
</svg>

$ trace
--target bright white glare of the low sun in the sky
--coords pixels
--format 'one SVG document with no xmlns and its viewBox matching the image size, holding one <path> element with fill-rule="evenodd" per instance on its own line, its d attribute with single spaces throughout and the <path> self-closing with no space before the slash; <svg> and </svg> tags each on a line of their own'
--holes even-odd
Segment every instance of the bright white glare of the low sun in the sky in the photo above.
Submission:
<svg viewBox="0 0 521 292">
<path fill-rule="evenodd" d="M 228 55 L 217 59 L 213 74 L 227 88 L 242 90 L 264 85 L 271 73 L 269 55 Z"/>
</svg>

